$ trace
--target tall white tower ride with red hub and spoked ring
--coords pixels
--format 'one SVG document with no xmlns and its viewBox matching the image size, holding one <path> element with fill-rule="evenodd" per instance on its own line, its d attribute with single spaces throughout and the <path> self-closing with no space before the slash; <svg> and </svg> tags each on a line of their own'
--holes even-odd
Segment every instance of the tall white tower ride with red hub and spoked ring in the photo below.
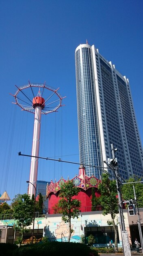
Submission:
<svg viewBox="0 0 143 256">
<path fill-rule="evenodd" d="M 16 86 L 16 85 L 15 85 Z M 16 86 L 17 87 L 17 86 Z M 34 90 L 39 88 L 37 97 L 35 96 Z M 15 92 L 13 97 L 15 97 L 15 104 L 20 106 L 22 110 L 33 113 L 34 116 L 34 130 L 33 130 L 33 142 L 32 142 L 32 157 L 30 165 L 30 177 L 28 182 L 28 194 L 30 197 L 35 195 L 36 183 L 37 183 L 37 173 L 38 173 L 38 157 L 39 157 L 39 144 L 40 144 L 40 129 L 41 129 L 41 114 L 49 114 L 56 112 L 58 108 L 62 106 L 62 99 L 58 93 L 58 89 L 54 89 L 44 84 L 35 84 L 32 83 L 24 85 L 20 88 L 17 87 L 17 92 Z M 42 89 L 42 93 L 40 93 Z M 25 90 L 27 93 L 25 93 Z M 30 99 L 30 94 L 32 92 L 33 100 Z M 43 92 L 45 92 L 44 98 Z M 20 94 L 20 96 L 19 96 Z M 26 105 L 25 105 L 26 103 Z M 34 189 L 34 186 L 35 189 Z"/>
</svg>

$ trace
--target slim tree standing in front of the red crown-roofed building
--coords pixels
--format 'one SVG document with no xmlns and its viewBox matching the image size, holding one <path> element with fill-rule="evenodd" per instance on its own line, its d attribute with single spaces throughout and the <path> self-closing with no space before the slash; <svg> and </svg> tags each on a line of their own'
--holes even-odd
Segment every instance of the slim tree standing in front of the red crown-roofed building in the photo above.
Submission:
<svg viewBox="0 0 143 256">
<path fill-rule="evenodd" d="M 68 242 L 73 232 L 71 218 L 78 218 L 79 215 L 80 201 L 73 198 L 75 195 L 78 195 L 78 193 L 79 189 L 74 186 L 74 183 L 70 180 L 62 184 L 59 193 L 61 199 L 58 201 L 57 207 L 61 209 L 60 212 L 63 214 L 62 220 L 65 223 L 69 223 Z"/>
</svg>

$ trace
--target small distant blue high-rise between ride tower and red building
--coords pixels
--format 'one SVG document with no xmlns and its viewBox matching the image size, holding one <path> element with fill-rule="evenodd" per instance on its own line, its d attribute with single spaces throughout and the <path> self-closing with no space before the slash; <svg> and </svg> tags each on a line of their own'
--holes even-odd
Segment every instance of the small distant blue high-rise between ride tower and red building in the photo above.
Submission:
<svg viewBox="0 0 143 256">
<path fill-rule="evenodd" d="M 50 184 L 50 182 L 47 181 L 43 181 L 43 180 L 37 180 L 36 183 L 36 197 L 37 195 L 39 195 L 39 193 L 41 193 L 41 195 L 43 196 L 43 213 L 46 213 L 48 210 L 48 199 L 46 200 L 46 186 L 47 183 Z"/>
</svg>

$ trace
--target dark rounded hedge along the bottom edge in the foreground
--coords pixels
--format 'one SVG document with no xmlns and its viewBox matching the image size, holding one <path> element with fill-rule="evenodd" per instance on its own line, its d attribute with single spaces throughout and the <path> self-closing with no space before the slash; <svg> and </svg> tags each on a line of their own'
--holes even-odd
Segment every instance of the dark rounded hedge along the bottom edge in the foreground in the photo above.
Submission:
<svg viewBox="0 0 143 256">
<path fill-rule="evenodd" d="M 39 256 L 39 255 L 68 255 L 73 256 L 80 252 L 80 255 L 98 256 L 98 252 L 93 252 L 87 245 L 81 243 L 61 243 L 61 242 L 49 242 L 49 243 L 36 243 L 34 245 L 24 245 L 15 250 L 13 256 Z M 91 253 L 94 254 L 91 254 Z"/>
</svg>

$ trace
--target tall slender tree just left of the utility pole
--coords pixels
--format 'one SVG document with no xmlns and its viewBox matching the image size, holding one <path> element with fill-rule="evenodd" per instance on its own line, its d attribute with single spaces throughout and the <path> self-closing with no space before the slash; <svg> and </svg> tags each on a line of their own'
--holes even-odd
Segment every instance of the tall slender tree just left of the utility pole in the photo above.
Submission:
<svg viewBox="0 0 143 256">
<path fill-rule="evenodd" d="M 115 180 L 110 180 L 107 173 L 102 175 L 102 183 L 99 184 L 98 189 L 101 193 L 100 204 L 103 208 L 103 215 L 111 214 L 111 221 L 108 221 L 108 225 L 113 225 L 115 232 L 115 249 L 117 250 L 117 230 L 115 224 L 116 214 L 119 213 L 118 198 L 117 198 L 117 186 Z"/>
</svg>

